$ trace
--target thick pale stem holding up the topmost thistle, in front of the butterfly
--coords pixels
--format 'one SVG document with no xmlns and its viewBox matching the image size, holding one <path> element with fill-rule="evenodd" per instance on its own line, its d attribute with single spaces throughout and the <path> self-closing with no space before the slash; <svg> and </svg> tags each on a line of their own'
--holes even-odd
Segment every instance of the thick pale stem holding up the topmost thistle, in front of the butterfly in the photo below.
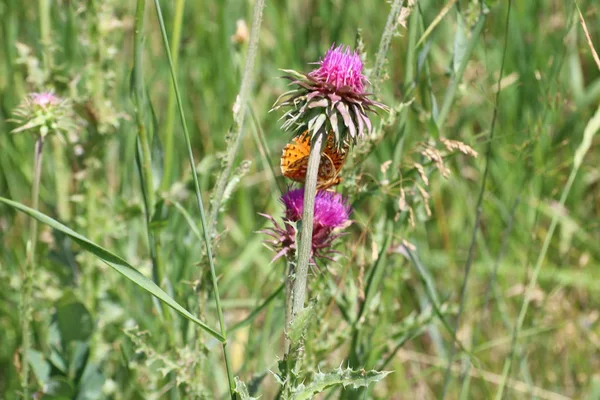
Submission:
<svg viewBox="0 0 600 400">
<path fill-rule="evenodd" d="M 323 136 L 325 136 L 323 132 L 316 135 L 311 145 L 310 155 L 308 156 L 306 181 L 304 185 L 302 225 L 300 229 L 300 243 L 298 246 L 298 263 L 296 265 L 292 318 L 290 323 L 294 321 L 296 315 L 304 308 L 304 301 L 306 299 L 306 281 L 308 279 L 308 263 L 310 261 L 312 250 L 313 217 L 315 213 L 315 196 L 317 194 L 317 175 L 319 173 L 319 163 L 321 162 Z"/>
</svg>

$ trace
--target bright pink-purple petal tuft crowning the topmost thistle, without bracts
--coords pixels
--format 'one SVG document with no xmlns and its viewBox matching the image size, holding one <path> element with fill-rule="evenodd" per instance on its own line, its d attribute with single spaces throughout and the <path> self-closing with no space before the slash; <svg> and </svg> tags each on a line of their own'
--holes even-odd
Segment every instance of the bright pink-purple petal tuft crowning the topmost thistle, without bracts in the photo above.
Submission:
<svg viewBox="0 0 600 400">
<path fill-rule="evenodd" d="M 348 86 L 356 93 L 364 92 L 367 78 L 362 74 L 363 64 L 356 51 L 341 45 L 331 46 L 319 64 L 320 67 L 309 76 L 333 85 L 337 90 Z"/>
</svg>

